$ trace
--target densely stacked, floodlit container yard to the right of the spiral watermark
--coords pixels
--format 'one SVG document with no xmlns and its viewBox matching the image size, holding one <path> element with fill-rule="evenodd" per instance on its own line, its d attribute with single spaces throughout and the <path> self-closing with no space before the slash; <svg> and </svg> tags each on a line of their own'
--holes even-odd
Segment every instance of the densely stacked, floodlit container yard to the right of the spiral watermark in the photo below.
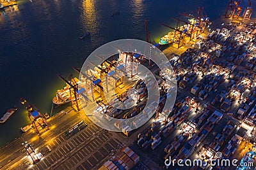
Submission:
<svg viewBox="0 0 256 170">
<path fill-rule="evenodd" d="M 255 107 L 252 106 L 255 104 L 255 71 L 252 69 L 254 59 L 250 57 L 253 51 L 249 52 L 253 48 L 247 46 L 250 42 L 252 44 L 254 36 L 249 33 L 250 36 L 246 36 L 244 40 L 241 35 L 245 34 L 244 31 L 248 35 L 248 32 L 256 27 L 255 24 L 248 23 L 241 24 L 237 29 L 238 25 L 225 22 L 220 28 L 202 38 L 197 48 L 189 48 L 180 56 L 172 55 L 170 61 L 177 75 L 178 98 L 170 118 L 162 124 L 153 123 L 153 129 L 148 128 L 145 135 L 138 138 L 137 145 L 142 152 L 154 149 L 155 147 L 150 147 L 150 143 L 156 145 L 161 140 L 161 143 L 165 143 L 161 147 L 165 153 L 164 159 L 214 159 L 217 152 L 231 159 L 242 141 L 255 143 Z M 239 43 L 234 43 L 232 39 Z M 186 104 L 186 99 L 179 99 L 179 92 L 188 91 L 189 97 L 198 103 L 194 110 Z M 184 122 L 183 116 L 181 117 L 180 125 L 179 116 L 187 114 L 188 116 L 184 116 Z M 230 117 L 234 120 L 230 120 Z M 218 122 L 221 119 L 225 120 L 225 123 L 219 127 Z M 243 127 L 250 127 L 250 132 L 246 131 L 246 136 L 241 137 L 236 132 Z M 210 132 L 218 128 L 222 131 L 211 137 Z M 171 141 L 168 138 L 169 133 L 172 136 Z M 157 139 L 154 136 L 157 136 Z"/>
</svg>

